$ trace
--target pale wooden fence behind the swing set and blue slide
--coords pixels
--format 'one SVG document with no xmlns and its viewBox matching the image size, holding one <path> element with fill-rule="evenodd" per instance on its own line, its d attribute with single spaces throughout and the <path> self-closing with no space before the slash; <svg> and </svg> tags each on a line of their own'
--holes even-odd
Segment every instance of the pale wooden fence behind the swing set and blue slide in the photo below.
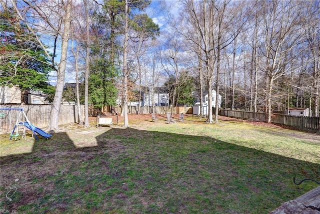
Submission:
<svg viewBox="0 0 320 214">
<path fill-rule="evenodd" d="M 10 105 L 0 106 L 0 108 L 22 108 L 30 123 L 39 128 L 44 128 L 49 124 L 51 105 Z M 61 105 L 59 125 L 78 122 L 77 108 L 77 105 Z M 83 105 L 80 105 L 80 108 L 83 117 Z M 12 131 L 19 112 L 18 110 L 0 110 L 0 134 Z M 25 121 L 23 114 L 20 114 L 19 121 Z"/>
</svg>

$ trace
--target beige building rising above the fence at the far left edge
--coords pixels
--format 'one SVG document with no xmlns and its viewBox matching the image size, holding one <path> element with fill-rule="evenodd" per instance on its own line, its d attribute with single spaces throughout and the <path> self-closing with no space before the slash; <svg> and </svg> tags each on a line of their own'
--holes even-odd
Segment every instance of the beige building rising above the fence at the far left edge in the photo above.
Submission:
<svg viewBox="0 0 320 214">
<path fill-rule="evenodd" d="M 21 104 L 21 90 L 16 86 L 11 88 L 7 86 L 0 86 L 0 103 Z"/>
</svg>

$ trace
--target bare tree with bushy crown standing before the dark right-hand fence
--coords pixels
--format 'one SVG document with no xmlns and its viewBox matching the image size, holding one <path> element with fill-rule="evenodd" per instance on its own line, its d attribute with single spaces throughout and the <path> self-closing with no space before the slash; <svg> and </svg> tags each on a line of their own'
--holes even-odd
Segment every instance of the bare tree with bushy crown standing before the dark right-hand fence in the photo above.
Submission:
<svg viewBox="0 0 320 214">
<path fill-rule="evenodd" d="M 273 1 L 270 4 L 263 4 L 263 58 L 264 66 L 260 66 L 266 77 L 266 111 L 267 122 L 271 121 L 271 97 L 274 81 L 290 72 L 294 57 L 289 52 L 299 44 L 300 11 L 294 2 Z"/>
</svg>

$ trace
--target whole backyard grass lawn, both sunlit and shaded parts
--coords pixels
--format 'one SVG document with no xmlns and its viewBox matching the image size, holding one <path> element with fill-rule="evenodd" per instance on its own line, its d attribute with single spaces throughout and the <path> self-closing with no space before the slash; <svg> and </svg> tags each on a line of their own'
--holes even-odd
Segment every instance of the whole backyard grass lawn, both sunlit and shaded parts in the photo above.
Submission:
<svg viewBox="0 0 320 214">
<path fill-rule="evenodd" d="M 176 124 L 164 116 L 129 123 L 64 126 L 39 141 L 1 135 L 0 209 L 268 213 L 318 186 L 295 185 L 293 177 L 320 180 L 320 135 L 232 120 L 206 124 L 190 115 Z M 13 195 L 9 186 L 17 186 Z"/>
</svg>

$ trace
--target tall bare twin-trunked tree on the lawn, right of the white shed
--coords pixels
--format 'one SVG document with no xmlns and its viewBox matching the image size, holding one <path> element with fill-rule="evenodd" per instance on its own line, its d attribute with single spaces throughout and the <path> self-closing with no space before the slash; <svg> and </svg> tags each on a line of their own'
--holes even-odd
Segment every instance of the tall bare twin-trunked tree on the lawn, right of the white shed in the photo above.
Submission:
<svg viewBox="0 0 320 214">
<path fill-rule="evenodd" d="M 192 34 L 190 28 L 176 27 L 177 32 L 182 34 L 187 40 L 190 40 L 197 45 L 203 56 L 205 63 L 206 87 L 208 90 L 208 119 L 206 122 L 212 123 L 212 87 L 216 87 L 215 99 L 215 119 L 218 121 L 218 106 L 219 106 L 219 85 L 220 85 L 220 69 L 221 69 L 221 51 L 225 49 L 237 37 L 242 28 L 244 21 L 237 20 L 240 24 L 235 28 L 233 34 L 229 34 L 228 26 L 234 24 L 237 13 L 230 11 L 232 8 L 240 7 L 241 5 L 230 5 L 229 1 L 210 1 L 204 0 L 201 2 L 193 0 L 181 0 L 183 4 L 184 25 L 192 26 Z M 232 6 L 232 7 L 231 7 Z M 241 13 L 241 9 L 238 9 Z M 237 14 L 238 15 L 238 14 Z M 240 16 L 242 18 L 242 16 Z M 198 35 L 192 37 L 192 35 Z M 214 81 L 215 79 L 215 81 Z"/>
</svg>

